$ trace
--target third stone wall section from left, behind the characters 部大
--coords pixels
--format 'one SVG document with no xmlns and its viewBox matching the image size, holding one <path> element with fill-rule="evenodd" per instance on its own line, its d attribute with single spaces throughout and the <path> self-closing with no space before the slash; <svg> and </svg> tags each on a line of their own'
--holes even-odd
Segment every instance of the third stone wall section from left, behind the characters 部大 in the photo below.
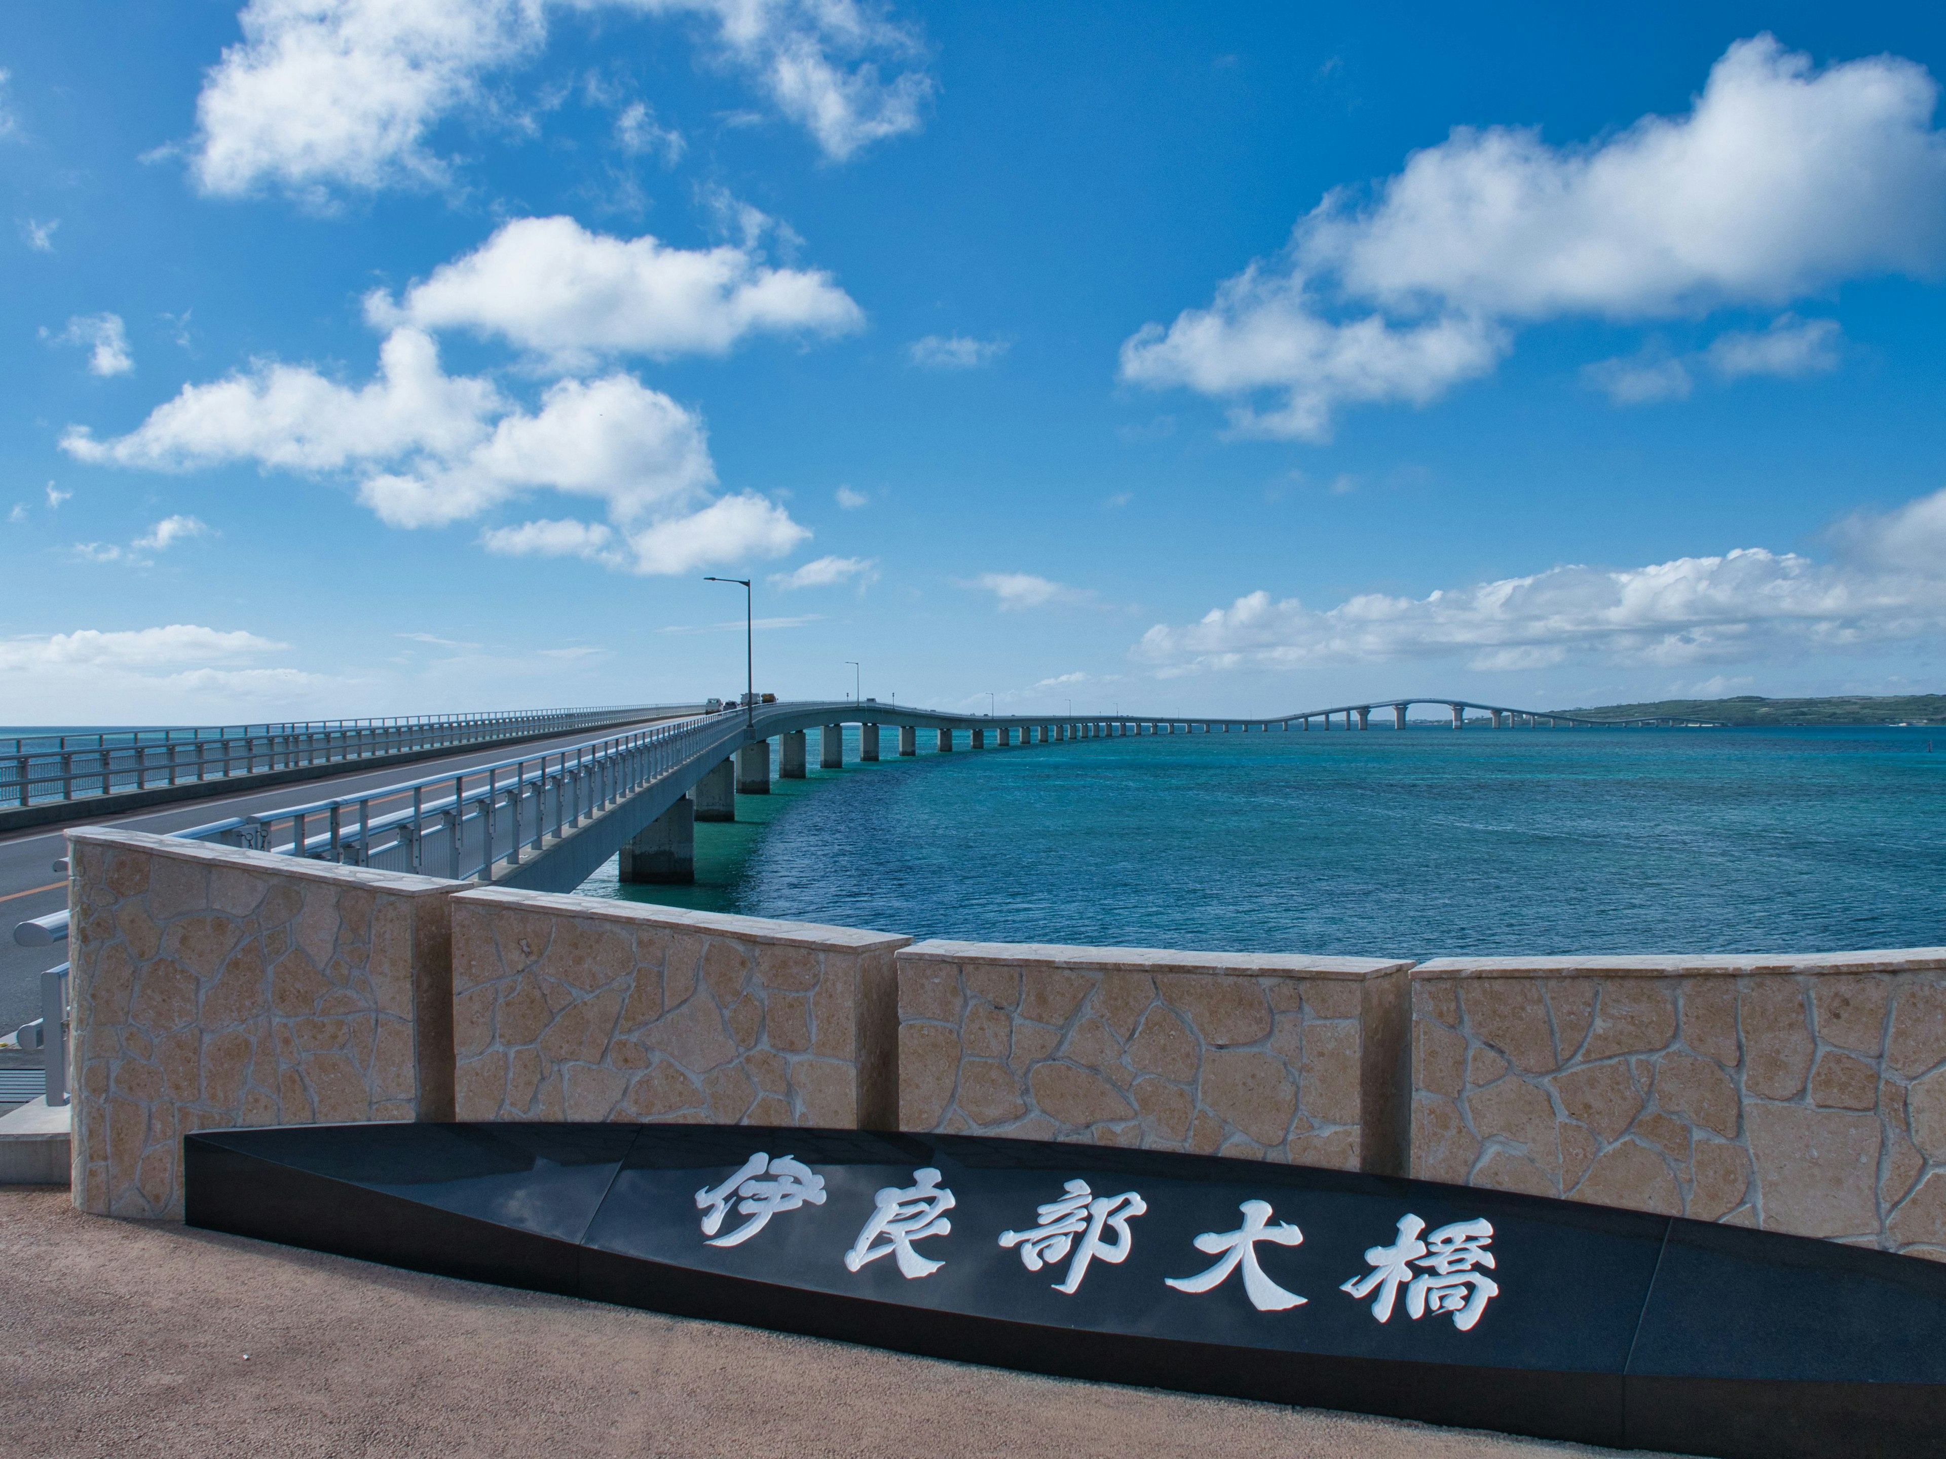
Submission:
<svg viewBox="0 0 1946 1459">
<path fill-rule="evenodd" d="M 922 942 L 899 1128 L 1399 1171 L 1409 967 Z"/>
</svg>

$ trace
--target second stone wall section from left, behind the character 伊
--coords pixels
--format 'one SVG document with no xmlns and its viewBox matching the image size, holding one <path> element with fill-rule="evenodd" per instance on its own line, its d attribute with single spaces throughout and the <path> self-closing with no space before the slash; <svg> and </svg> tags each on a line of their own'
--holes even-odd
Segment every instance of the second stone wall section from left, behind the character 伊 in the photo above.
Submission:
<svg viewBox="0 0 1946 1459">
<path fill-rule="evenodd" d="M 911 938 L 502 889 L 451 907 L 459 1119 L 893 1128 Z"/>
</svg>

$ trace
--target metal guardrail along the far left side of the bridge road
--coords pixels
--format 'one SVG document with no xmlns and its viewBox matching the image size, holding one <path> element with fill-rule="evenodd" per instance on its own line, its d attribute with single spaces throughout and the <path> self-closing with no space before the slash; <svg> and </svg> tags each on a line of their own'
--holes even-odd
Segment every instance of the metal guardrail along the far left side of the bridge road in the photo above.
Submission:
<svg viewBox="0 0 1946 1459">
<path fill-rule="evenodd" d="M 237 728 L 49 733 L 0 739 L 0 805 L 43 805 L 152 786 L 198 784 L 522 735 L 574 733 L 677 704 L 428 714 Z"/>
</svg>

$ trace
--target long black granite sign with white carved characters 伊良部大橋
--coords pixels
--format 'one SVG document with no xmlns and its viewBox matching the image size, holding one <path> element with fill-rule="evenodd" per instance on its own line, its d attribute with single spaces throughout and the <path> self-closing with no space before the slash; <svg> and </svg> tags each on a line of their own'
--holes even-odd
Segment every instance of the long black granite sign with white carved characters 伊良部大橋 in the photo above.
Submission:
<svg viewBox="0 0 1946 1459">
<path fill-rule="evenodd" d="M 1496 1191 L 765 1126 L 185 1140 L 187 1218 L 1045 1373 L 1777 1459 L 1936 1455 L 1946 1268 Z"/>
</svg>

